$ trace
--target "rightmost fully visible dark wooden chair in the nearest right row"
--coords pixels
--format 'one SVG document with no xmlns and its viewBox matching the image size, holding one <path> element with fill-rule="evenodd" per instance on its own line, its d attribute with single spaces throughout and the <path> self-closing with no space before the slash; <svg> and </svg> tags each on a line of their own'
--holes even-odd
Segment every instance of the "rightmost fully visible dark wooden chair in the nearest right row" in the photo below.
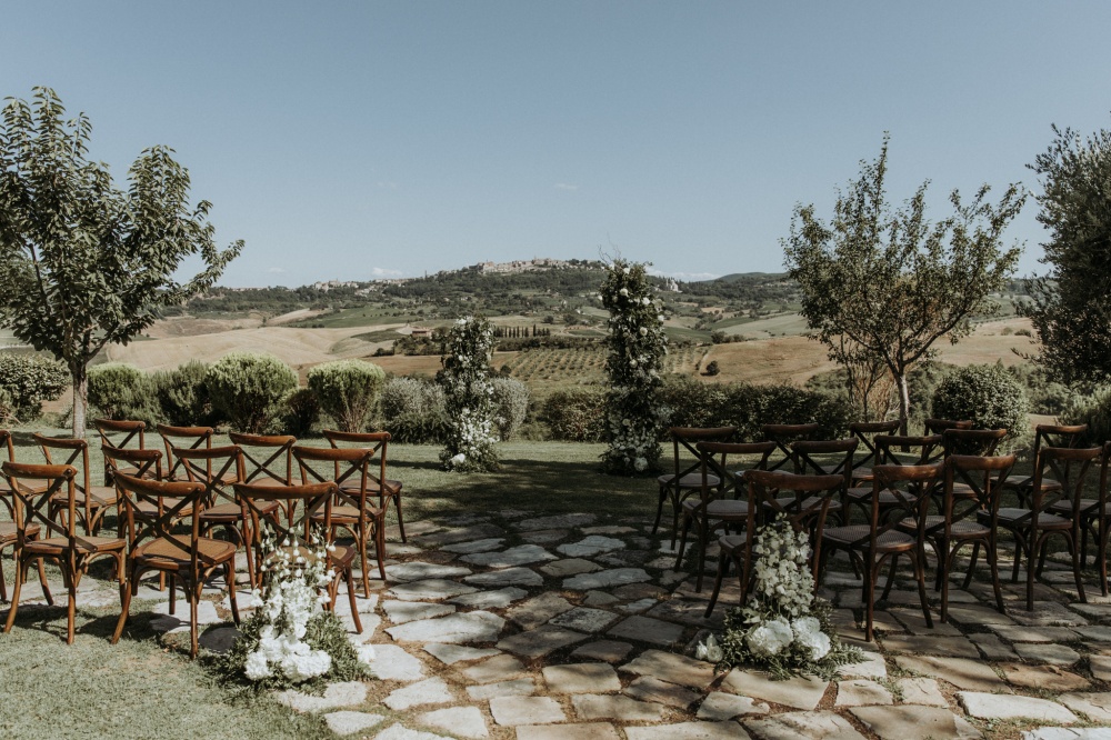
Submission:
<svg viewBox="0 0 1111 740">
<path fill-rule="evenodd" d="M 1039 552 L 1041 553 L 1037 567 L 1037 574 L 1040 576 L 1042 567 L 1045 564 L 1045 548 L 1050 538 L 1054 536 L 1062 538 L 1068 546 L 1069 554 L 1072 556 L 1072 573 L 1077 581 L 1077 592 L 1081 602 L 1088 602 L 1081 576 L 1083 566 L 1080 561 L 1080 508 L 1088 473 L 1101 452 L 1102 450 L 1098 447 L 1091 449 L 1041 448 L 1038 453 L 1038 467 L 1034 468 L 1029 489 L 1031 493 L 1030 507 L 1001 507 L 999 510 L 999 527 L 1014 536 L 1012 582 L 1019 580 L 1022 556 L 1023 553 L 1027 556 L 1027 611 L 1034 608 L 1034 557 Z M 1050 479 L 1053 480 L 1053 486 L 1044 483 L 1045 480 Z M 981 512 L 981 517 L 984 516 L 984 512 Z"/>
</svg>

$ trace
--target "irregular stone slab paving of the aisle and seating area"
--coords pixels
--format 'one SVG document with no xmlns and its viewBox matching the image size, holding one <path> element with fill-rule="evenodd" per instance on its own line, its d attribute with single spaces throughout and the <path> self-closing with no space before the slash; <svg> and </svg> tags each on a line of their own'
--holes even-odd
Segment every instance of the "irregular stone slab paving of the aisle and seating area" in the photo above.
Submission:
<svg viewBox="0 0 1111 740">
<path fill-rule="evenodd" d="M 332 684 L 322 697 L 277 696 L 317 713 L 337 736 L 1111 740 L 1111 600 L 1089 578 L 1091 603 L 1074 603 L 1071 571 L 1057 556 L 1032 611 L 1023 608 L 1024 584 L 1009 581 L 1008 552 L 1000 558 L 1005 613 L 993 607 L 982 563 L 968 590 L 954 573 L 949 623 L 939 621 L 929 588 L 933 628 L 912 573 L 900 569 L 875 609 L 872 642 L 858 621 L 860 578 L 834 557 L 822 593 L 864 660 L 832 682 L 773 681 L 743 668 L 715 672 L 691 657 L 699 640 L 720 632 L 739 590 L 734 577 L 725 579 L 707 618 L 712 573 L 694 591 L 693 574 L 673 570 L 665 528 L 652 536 L 648 522 L 631 519 L 500 511 L 407 529 L 408 544 L 391 542 L 388 582 L 370 563 L 370 598 L 360 587 L 362 634 L 353 633 L 342 588 L 338 603 L 351 641 L 376 646 L 377 678 Z M 90 582 L 83 596 L 114 593 Z M 236 632 L 222 583 L 204 593 L 202 646 L 226 650 Z M 180 644 L 188 612 L 179 603 L 179 613 L 167 614 L 167 596 L 143 586 L 138 608 L 147 604 L 151 626 Z M 250 613 L 249 594 L 239 598 Z"/>
</svg>

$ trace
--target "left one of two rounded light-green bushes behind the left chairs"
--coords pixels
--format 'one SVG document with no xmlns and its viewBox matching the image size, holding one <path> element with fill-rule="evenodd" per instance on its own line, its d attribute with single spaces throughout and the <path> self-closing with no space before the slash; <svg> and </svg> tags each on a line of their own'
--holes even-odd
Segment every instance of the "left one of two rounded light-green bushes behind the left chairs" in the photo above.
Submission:
<svg viewBox="0 0 1111 740">
<path fill-rule="evenodd" d="M 212 408 L 237 431 L 260 434 L 297 388 L 297 372 L 273 354 L 231 352 L 209 368 L 204 384 Z"/>
</svg>

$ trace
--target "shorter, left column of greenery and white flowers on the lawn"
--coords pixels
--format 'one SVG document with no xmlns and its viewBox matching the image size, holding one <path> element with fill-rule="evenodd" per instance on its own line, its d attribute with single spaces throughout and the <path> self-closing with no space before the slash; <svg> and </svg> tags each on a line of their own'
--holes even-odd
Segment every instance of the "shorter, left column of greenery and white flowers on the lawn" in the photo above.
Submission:
<svg viewBox="0 0 1111 740">
<path fill-rule="evenodd" d="M 459 472 L 497 470 L 490 322 L 474 317 L 459 319 L 448 334 L 446 350 L 439 381 L 443 386 L 448 432 L 440 461 L 446 469 Z"/>
</svg>

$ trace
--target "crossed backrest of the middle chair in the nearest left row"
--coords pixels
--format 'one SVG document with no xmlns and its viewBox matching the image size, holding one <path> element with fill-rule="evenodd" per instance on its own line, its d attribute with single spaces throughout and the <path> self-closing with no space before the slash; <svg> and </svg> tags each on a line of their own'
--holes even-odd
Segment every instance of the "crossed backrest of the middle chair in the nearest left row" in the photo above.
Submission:
<svg viewBox="0 0 1111 740">
<path fill-rule="evenodd" d="M 202 566 L 213 564 L 213 560 L 198 547 L 200 514 L 206 498 L 203 483 L 143 480 L 118 472 L 116 488 L 120 491 L 127 510 L 128 541 L 132 552 L 144 540 L 163 540 L 189 558 L 190 569 L 194 574 Z M 172 531 L 184 519 L 189 519 L 188 538 Z"/>
</svg>

